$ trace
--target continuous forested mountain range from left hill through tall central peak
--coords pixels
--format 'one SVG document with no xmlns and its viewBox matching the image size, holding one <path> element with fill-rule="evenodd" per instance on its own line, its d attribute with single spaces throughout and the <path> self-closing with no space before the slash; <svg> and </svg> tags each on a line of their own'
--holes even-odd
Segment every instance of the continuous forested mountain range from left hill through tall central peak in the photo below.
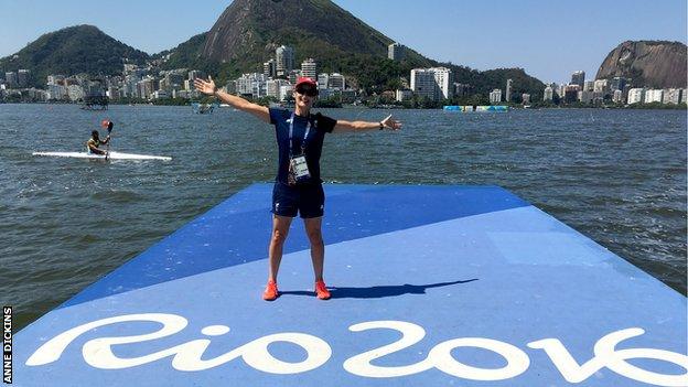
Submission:
<svg viewBox="0 0 688 387">
<path fill-rule="evenodd" d="M 412 29 L 412 26 L 409 26 Z M 121 74 L 122 63 L 162 63 L 162 69 L 195 68 L 214 75 L 218 83 L 243 73 L 262 72 L 262 63 L 275 50 L 288 45 L 295 51 L 297 67 L 308 57 L 319 71 L 342 73 L 347 84 L 380 93 L 402 86 L 416 67 L 445 66 L 454 80 L 473 86 L 484 96 L 514 79 L 514 90 L 541 95 L 545 85 L 520 68 L 479 72 L 440 63 L 407 47 L 402 61 L 387 58 L 394 41 L 367 25 L 331 0 L 234 0 L 205 33 L 155 55 L 126 45 L 93 25 L 77 25 L 44 34 L 19 53 L 0 58 L 0 74 L 26 68 L 33 85 L 44 87 L 49 74 L 92 76 Z M 404 43 L 404 42 L 401 42 Z"/>
</svg>

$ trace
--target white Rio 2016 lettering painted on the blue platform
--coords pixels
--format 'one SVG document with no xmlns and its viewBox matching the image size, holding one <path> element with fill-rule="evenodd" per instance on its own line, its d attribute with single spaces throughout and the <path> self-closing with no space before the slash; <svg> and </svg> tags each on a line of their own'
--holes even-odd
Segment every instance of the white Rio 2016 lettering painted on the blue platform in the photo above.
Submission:
<svg viewBox="0 0 688 387">
<path fill-rule="evenodd" d="M 26 361 L 26 365 L 41 366 L 57 361 L 69 343 L 90 330 L 109 324 L 140 321 L 161 323 L 162 327 L 155 332 L 141 335 L 89 340 L 84 344 L 82 351 L 84 361 L 97 368 L 122 369 L 172 356 L 172 367 L 175 369 L 197 372 L 217 367 L 241 357 L 246 364 L 265 373 L 298 374 L 322 366 L 332 355 L 330 345 L 320 337 L 305 333 L 284 332 L 254 340 L 209 359 L 202 359 L 205 350 L 211 344 L 211 341 L 207 338 L 192 340 L 144 356 L 117 357 L 112 353 L 114 345 L 141 343 L 166 337 L 182 331 L 189 324 L 186 319 L 176 314 L 141 313 L 103 319 L 61 333 L 39 347 Z M 396 330 L 401 333 L 401 338 L 395 343 L 350 357 L 344 362 L 344 369 L 363 377 L 393 378 L 437 368 L 445 374 L 464 379 L 504 380 L 517 377 L 530 366 L 530 358 L 523 350 L 508 343 L 484 337 L 460 337 L 442 342 L 429 352 L 426 359 L 416 364 L 395 367 L 376 366 L 372 364 L 376 358 L 407 348 L 420 342 L 426 335 L 423 327 L 404 321 L 368 321 L 350 326 L 352 332 L 378 329 Z M 201 331 L 206 336 L 218 336 L 227 332 L 229 332 L 229 327 L 225 325 L 211 325 Z M 579 364 L 557 338 L 538 340 L 528 343 L 527 346 L 545 351 L 552 364 L 569 383 L 583 381 L 602 368 L 609 368 L 623 377 L 642 383 L 657 386 L 687 386 L 688 356 L 655 348 L 615 348 L 622 341 L 639 336 L 643 333 L 645 331 L 639 327 L 630 327 L 606 334 L 595 343 L 593 348 L 594 357 L 583 364 Z M 307 353 L 305 359 L 292 363 L 276 358 L 268 350 L 268 345 L 276 342 L 292 343 L 302 347 Z M 481 368 L 465 365 L 452 357 L 452 351 L 459 347 L 491 351 L 504 357 L 506 365 L 502 368 Z M 686 373 L 665 375 L 639 368 L 626 362 L 637 358 L 668 362 L 686 369 Z"/>
</svg>

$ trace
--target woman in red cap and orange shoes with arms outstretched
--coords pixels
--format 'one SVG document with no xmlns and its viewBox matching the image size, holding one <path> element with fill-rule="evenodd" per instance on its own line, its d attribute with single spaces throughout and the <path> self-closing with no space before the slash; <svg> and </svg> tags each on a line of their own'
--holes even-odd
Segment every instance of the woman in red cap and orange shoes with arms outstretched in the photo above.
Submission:
<svg viewBox="0 0 688 387">
<path fill-rule="evenodd" d="M 391 116 L 379 122 L 335 120 L 321 114 L 311 114 L 318 97 L 318 84 L 308 77 L 300 77 L 294 85 L 294 111 L 267 108 L 241 97 L 221 92 L 213 78 L 194 79 L 196 89 L 214 95 L 235 108 L 250 112 L 265 122 L 275 125 L 279 147 L 279 165 L 272 190 L 272 237 L 268 249 L 268 284 L 262 293 L 266 301 L 279 297 L 277 273 L 282 259 L 282 247 L 297 213 L 304 222 L 311 243 L 311 260 L 315 273 L 315 294 L 321 300 L 330 299 L 330 291 L 323 280 L 325 246 L 322 239 L 322 216 L 325 196 L 320 180 L 320 155 L 326 132 L 363 130 L 398 130 L 401 122 Z"/>
</svg>

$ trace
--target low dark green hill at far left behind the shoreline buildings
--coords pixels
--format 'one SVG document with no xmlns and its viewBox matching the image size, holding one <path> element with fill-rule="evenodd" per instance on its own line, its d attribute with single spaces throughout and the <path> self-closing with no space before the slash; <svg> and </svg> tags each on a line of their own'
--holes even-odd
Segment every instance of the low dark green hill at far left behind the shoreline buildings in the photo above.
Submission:
<svg viewBox="0 0 688 387">
<path fill-rule="evenodd" d="M 32 84 L 43 87 L 50 74 L 121 74 L 123 58 L 142 64 L 149 55 L 96 26 L 76 25 L 46 33 L 17 54 L 0 58 L 0 74 L 26 68 Z"/>
</svg>

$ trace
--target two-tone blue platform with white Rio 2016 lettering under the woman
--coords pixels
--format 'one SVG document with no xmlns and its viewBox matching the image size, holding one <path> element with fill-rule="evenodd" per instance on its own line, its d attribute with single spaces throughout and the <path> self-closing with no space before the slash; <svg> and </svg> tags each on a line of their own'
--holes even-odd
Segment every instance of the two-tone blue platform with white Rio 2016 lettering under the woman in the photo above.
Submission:
<svg viewBox="0 0 688 387">
<path fill-rule="evenodd" d="M 688 385 L 686 298 L 497 186 L 325 185 L 333 299 L 295 221 L 265 302 L 271 190 L 19 332 L 14 384 Z"/>
</svg>

